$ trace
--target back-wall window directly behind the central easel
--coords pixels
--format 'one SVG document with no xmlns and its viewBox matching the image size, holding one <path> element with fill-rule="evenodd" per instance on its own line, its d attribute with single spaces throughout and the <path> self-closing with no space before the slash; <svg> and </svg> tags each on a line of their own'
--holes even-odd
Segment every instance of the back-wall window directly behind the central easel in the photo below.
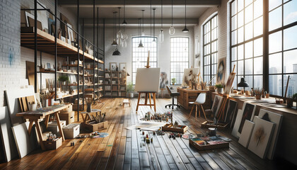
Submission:
<svg viewBox="0 0 297 170">
<path fill-rule="evenodd" d="M 144 47 L 138 47 L 139 42 L 142 42 Z M 158 38 L 156 38 L 158 42 Z M 150 51 L 149 63 L 152 68 L 158 66 L 158 43 L 153 43 L 152 37 L 134 37 L 132 38 L 132 83 L 136 81 L 137 68 L 146 66 L 148 50 Z"/>
</svg>

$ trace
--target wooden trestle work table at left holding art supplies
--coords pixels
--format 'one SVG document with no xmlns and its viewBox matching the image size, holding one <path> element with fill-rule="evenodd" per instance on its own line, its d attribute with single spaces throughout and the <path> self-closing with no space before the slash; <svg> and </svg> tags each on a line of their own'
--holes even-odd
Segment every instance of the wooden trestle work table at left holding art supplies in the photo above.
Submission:
<svg viewBox="0 0 297 170">
<path fill-rule="evenodd" d="M 49 123 L 50 120 L 50 115 L 54 114 L 56 115 L 56 120 L 57 120 L 57 125 L 59 128 L 59 132 L 62 136 L 62 141 L 65 140 L 64 133 L 60 124 L 60 119 L 59 119 L 59 111 L 64 110 L 65 108 L 69 108 L 71 105 L 57 105 L 57 106 L 49 106 L 46 108 L 39 108 L 36 111 L 28 111 L 28 112 L 23 112 L 23 113 L 17 113 L 16 116 L 23 116 L 23 118 L 28 119 L 30 124 L 28 128 L 28 133 L 29 135 L 31 134 L 31 130 L 33 128 L 33 123 L 35 123 L 36 129 L 37 129 L 37 135 L 40 140 L 40 146 L 42 150 L 45 150 L 45 145 L 43 145 L 43 138 L 42 138 L 42 132 L 40 128 L 39 121 L 42 118 L 45 118 L 45 126 L 47 128 L 47 124 Z"/>
</svg>

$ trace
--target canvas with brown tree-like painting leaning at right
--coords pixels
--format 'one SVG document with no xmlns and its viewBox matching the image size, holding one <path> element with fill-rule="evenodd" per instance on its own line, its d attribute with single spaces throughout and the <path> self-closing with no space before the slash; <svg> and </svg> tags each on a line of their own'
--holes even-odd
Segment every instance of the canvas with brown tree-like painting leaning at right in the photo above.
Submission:
<svg viewBox="0 0 297 170">
<path fill-rule="evenodd" d="M 266 157 L 275 123 L 263 120 L 258 116 L 255 116 L 254 122 L 255 128 L 252 130 L 248 149 L 263 159 Z"/>
</svg>

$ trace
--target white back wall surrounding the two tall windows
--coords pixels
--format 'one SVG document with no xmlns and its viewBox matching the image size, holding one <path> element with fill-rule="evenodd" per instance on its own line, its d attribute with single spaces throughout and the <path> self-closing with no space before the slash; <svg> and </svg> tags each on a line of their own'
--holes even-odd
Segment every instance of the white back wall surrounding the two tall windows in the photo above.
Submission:
<svg viewBox="0 0 297 170">
<path fill-rule="evenodd" d="M 169 29 L 164 28 L 164 42 L 159 43 L 158 47 L 158 67 L 161 68 L 161 72 L 166 72 L 168 76 L 170 75 L 170 37 L 185 36 L 190 38 L 190 66 L 193 64 L 194 57 L 194 28 L 189 28 L 189 33 L 182 33 L 182 28 L 175 28 L 175 34 L 170 36 Z M 150 29 L 145 28 L 145 35 L 150 35 Z M 93 33 L 93 32 L 91 32 Z M 120 56 L 112 56 L 112 52 L 115 51 L 113 47 L 113 29 L 105 29 L 105 68 L 109 69 L 110 62 L 127 62 L 127 70 L 129 74 L 132 73 L 132 37 L 138 36 L 138 28 L 126 28 L 125 33 L 129 36 L 127 40 L 127 47 L 119 47 L 121 52 Z M 155 35 L 158 36 L 160 33 L 160 28 L 156 28 Z M 171 79 L 171 78 L 170 78 Z M 127 82 L 132 81 L 132 77 L 128 77 Z"/>
</svg>

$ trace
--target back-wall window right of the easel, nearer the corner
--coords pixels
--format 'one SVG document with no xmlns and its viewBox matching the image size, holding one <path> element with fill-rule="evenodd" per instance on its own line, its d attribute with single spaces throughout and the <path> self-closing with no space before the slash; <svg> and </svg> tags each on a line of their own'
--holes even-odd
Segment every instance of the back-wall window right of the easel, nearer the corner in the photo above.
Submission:
<svg viewBox="0 0 297 170">
<path fill-rule="evenodd" d="M 173 78 L 176 84 L 182 84 L 184 69 L 189 68 L 189 46 L 189 38 L 170 38 L 170 84 Z"/>
</svg>

